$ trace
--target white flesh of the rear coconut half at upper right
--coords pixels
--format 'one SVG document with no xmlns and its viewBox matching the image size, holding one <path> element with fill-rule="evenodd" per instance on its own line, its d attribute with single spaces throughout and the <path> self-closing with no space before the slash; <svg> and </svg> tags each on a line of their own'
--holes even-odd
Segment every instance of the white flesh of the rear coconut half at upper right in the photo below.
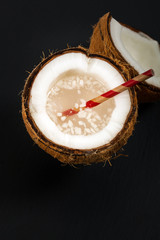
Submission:
<svg viewBox="0 0 160 240">
<path fill-rule="evenodd" d="M 110 30 L 113 43 L 124 59 L 139 73 L 152 68 L 155 76 L 146 82 L 160 87 L 159 43 L 142 32 L 121 25 L 114 18 L 111 19 Z"/>
</svg>

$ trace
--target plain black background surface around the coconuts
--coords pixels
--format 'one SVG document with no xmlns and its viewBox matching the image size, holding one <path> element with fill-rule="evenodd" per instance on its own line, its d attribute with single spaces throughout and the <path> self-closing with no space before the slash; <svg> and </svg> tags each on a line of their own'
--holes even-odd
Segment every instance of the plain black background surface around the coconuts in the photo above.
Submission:
<svg viewBox="0 0 160 240">
<path fill-rule="evenodd" d="M 110 11 L 160 40 L 158 1 L 4 1 L 1 24 L 0 239 L 160 239 L 160 102 L 139 105 L 112 166 L 62 166 L 34 145 L 21 117 L 27 71 L 42 52 L 82 44 Z"/>
</svg>

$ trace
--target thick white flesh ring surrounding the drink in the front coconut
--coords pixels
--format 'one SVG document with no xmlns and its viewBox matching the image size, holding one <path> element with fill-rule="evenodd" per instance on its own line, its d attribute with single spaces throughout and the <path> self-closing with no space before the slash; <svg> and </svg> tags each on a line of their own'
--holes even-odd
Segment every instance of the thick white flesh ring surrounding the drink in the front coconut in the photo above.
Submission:
<svg viewBox="0 0 160 240">
<path fill-rule="evenodd" d="M 63 72 L 75 69 L 99 75 L 110 89 L 124 82 L 119 72 L 105 61 L 88 58 L 82 53 L 63 54 L 50 61 L 36 76 L 30 98 L 30 113 L 40 131 L 51 141 L 74 149 L 90 149 L 109 143 L 122 129 L 131 107 L 128 91 L 114 97 L 115 109 L 109 124 L 93 135 L 69 135 L 61 132 L 46 112 L 48 89 Z"/>
</svg>

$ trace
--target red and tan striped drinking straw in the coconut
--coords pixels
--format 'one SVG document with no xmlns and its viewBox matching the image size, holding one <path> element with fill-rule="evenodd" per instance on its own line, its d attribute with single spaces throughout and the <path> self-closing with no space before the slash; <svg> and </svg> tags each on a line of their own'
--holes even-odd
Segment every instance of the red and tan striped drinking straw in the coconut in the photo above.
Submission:
<svg viewBox="0 0 160 240">
<path fill-rule="evenodd" d="M 102 95 L 96 97 L 96 98 L 93 98 L 89 101 L 86 102 L 86 105 L 84 107 L 79 107 L 79 108 L 70 108 L 68 110 L 65 110 L 62 112 L 62 115 L 63 116 L 72 116 L 74 114 L 77 114 L 79 111 L 81 110 L 84 110 L 85 108 L 93 108 L 93 107 L 96 107 L 98 106 L 99 104 L 103 103 L 104 101 L 118 95 L 119 93 L 127 90 L 128 88 L 140 83 L 140 82 L 143 82 L 145 80 L 147 80 L 148 78 L 152 77 L 154 75 L 154 71 L 152 69 L 128 80 L 127 82 L 119 85 L 118 87 L 106 92 L 106 93 L 103 93 Z"/>
</svg>

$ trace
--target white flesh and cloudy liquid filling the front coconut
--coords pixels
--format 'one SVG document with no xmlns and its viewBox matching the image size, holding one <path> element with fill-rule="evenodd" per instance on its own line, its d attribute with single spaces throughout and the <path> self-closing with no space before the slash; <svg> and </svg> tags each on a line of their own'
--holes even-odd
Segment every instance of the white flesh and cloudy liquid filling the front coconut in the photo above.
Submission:
<svg viewBox="0 0 160 240">
<path fill-rule="evenodd" d="M 30 114 L 43 135 L 58 145 L 73 149 L 103 146 L 124 127 L 131 108 L 128 90 L 73 116 L 62 116 L 61 112 L 83 106 L 122 83 L 120 73 L 106 61 L 80 52 L 62 54 L 46 64 L 34 79 Z"/>
</svg>

